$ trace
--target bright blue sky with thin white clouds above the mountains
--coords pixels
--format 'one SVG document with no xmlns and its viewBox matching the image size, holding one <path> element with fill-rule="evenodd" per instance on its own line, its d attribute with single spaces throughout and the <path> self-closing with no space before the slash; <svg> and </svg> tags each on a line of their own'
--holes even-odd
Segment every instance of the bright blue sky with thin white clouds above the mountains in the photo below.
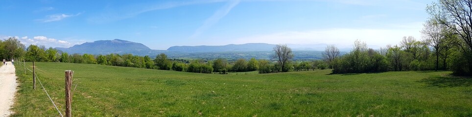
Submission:
<svg viewBox="0 0 472 117">
<path fill-rule="evenodd" d="M 431 0 L 0 0 L 0 38 L 47 47 L 243 43 L 351 47 L 421 39 Z"/>
</svg>

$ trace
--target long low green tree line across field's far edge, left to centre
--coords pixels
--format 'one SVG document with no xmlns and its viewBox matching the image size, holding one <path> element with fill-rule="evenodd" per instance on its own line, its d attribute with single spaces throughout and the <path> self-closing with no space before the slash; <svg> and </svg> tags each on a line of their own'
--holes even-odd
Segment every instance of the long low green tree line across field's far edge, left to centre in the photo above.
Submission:
<svg viewBox="0 0 472 117">
<path fill-rule="evenodd" d="M 24 59 L 37 62 L 70 62 L 101 64 L 146 69 L 174 70 L 194 73 L 218 73 L 259 71 L 259 73 L 274 73 L 288 71 L 302 71 L 325 69 L 326 64 L 321 60 L 295 61 L 291 49 L 279 44 L 274 47 L 273 59 L 169 59 L 165 54 L 157 55 L 154 59 L 149 56 L 132 54 L 68 54 L 55 48 L 46 48 L 44 45 L 29 45 L 27 48 L 15 37 L 0 40 L 0 57 L 10 59 Z"/>
</svg>

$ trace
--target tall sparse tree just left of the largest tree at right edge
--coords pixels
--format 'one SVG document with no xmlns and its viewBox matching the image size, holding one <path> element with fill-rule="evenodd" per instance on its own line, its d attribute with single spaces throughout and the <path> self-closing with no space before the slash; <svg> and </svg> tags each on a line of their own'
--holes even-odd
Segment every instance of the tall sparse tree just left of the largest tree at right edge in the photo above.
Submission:
<svg viewBox="0 0 472 117">
<path fill-rule="evenodd" d="M 426 43 L 434 49 L 437 71 L 439 69 L 439 56 L 443 50 L 448 29 L 445 25 L 438 23 L 435 19 L 428 20 L 424 26 L 425 27 L 421 33 L 423 34 Z"/>
</svg>

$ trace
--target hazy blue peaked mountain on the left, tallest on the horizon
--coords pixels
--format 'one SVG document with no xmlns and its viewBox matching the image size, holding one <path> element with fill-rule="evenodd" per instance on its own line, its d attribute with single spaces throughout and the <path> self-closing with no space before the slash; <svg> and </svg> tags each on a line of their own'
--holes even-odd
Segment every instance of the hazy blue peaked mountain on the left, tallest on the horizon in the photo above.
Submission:
<svg viewBox="0 0 472 117">
<path fill-rule="evenodd" d="M 94 42 L 86 42 L 80 45 L 74 45 L 69 48 L 56 48 L 67 53 L 78 53 L 78 54 L 136 54 L 146 55 L 155 53 L 158 50 L 152 50 L 149 47 L 136 42 L 127 40 L 97 40 Z"/>
</svg>

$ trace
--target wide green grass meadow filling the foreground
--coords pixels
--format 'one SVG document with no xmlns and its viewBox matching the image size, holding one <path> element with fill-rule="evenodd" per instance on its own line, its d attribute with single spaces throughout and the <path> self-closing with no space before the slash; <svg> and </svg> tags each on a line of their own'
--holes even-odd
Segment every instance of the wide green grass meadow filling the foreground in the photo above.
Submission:
<svg viewBox="0 0 472 117">
<path fill-rule="evenodd" d="M 447 71 L 217 75 L 95 64 L 36 66 L 62 112 L 64 70 L 74 71 L 75 117 L 472 116 L 472 78 L 449 77 Z M 31 73 L 16 67 L 20 86 L 12 117 L 57 117 L 40 84 L 32 89 Z"/>
</svg>

